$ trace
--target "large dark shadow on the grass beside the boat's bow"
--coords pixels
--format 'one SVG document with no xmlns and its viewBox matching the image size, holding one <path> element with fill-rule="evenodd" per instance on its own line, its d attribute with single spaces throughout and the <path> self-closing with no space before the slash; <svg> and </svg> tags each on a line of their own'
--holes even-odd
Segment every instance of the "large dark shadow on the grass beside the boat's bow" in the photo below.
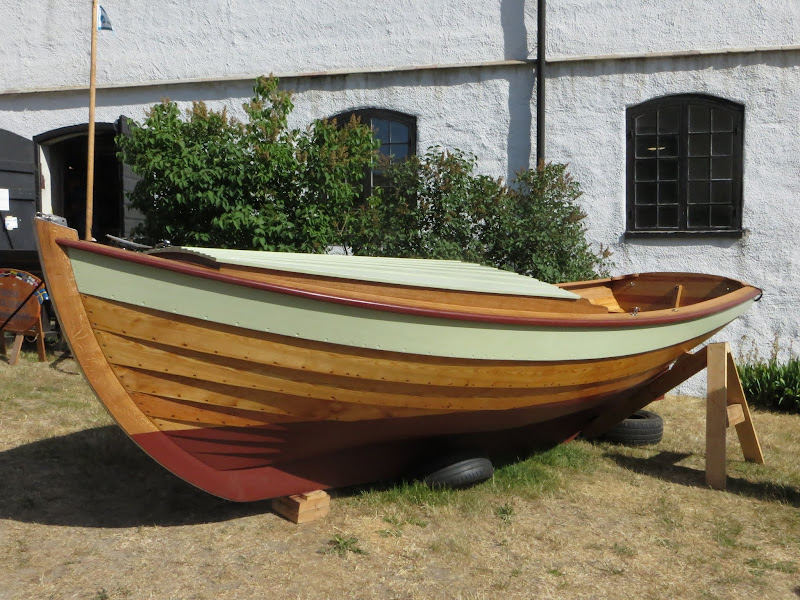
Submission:
<svg viewBox="0 0 800 600">
<path fill-rule="evenodd" d="M 260 514 L 159 466 L 116 426 L 0 452 L 0 519 L 78 527 L 173 526 Z"/>
</svg>

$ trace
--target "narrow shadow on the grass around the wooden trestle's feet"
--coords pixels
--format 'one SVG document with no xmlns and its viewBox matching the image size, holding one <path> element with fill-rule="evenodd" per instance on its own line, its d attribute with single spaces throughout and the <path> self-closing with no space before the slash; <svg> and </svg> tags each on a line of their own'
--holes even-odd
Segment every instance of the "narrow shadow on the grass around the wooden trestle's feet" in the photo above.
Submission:
<svg viewBox="0 0 800 600">
<path fill-rule="evenodd" d="M 609 451 L 605 452 L 604 456 L 635 473 L 680 485 L 706 487 L 705 471 L 677 464 L 691 456 L 691 454 L 659 452 L 649 458 L 637 458 Z M 768 502 L 781 502 L 800 508 L 800 489 L 794 486 L 780 485 L 768 481 L 747 481 L 746 479 L 728 476 L 727 491 L 738 496 Z"/>
</svg>

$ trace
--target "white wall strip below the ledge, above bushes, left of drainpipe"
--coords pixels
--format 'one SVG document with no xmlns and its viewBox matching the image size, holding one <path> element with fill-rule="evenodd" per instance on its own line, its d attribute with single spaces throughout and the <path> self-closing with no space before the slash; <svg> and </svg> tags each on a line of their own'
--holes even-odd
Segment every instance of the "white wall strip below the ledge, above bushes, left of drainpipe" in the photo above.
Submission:
<svg viewBox="0 0 800 600">
<path fill-rule="evenodd" d="M 251 97 L 253 83 L 101 89 L 95 116 L 97 122 L 111 123 L 120 115 L 141 122 L 153 104 L 168 97 L 182 109 L 203 100 L 243 119 L 242 104 Z M 396 110 L 418 117 L 420 153 L 434 145 L 459 148 L 476 154 L 480 172 L 495 177 L 528 164 L 534 79 L 526 66 L 287 78 L 281 87 L 294 93 L 291 127 L 358 108 Z M 85 123 L 87 102 L 81 91 L 0 94 L 0 128 L 33 138 Z"/>
</svg>

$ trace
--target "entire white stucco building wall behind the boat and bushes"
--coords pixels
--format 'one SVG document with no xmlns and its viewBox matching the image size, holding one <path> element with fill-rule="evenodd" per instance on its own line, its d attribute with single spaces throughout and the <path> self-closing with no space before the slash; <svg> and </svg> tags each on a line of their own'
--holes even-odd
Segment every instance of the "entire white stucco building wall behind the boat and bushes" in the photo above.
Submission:
<svg viewBox="0 0 800 600">
<path fill-rule="evenodd" d="M 533 65 L 488 64 L 535 56 L 535 0 L 399 0 L 380 10 L 358 0 L 103 6 L 114 32 L 98 40 L 99 122 L 140 120 L 165 96 L 241 116 L 256 75 L 342 70 L 353 73 L 282 79 L 295 92 L 292 126 L 385 108 L 417 116 L 420 152 L 461 148 L 488 175 L 509 177 L 535 155 Z M 764 299 L 721 337 L 740 352 L 745 338 L 762 355 L 776 339 L 797 352 L 800 2 L 548 0 L 547 9 L 548 56 L 586 59 L 548 65 L 547 156 L 570 163 L 589 238 L 614 252 L 614 273 L 708 271 L 758 285 Z M 0 15 L 0 129 L 32 138 L 85 123 L 88 7 L 31 0 L 23 11 L 0 0 Z M 747 48 L 772 50 L 619 59 Z M 405 69 L 476 63 L 487 64 Z M 625 109 L 680 93 L 745 106 L 742 239 L 624 238 Z"/>
</svg>

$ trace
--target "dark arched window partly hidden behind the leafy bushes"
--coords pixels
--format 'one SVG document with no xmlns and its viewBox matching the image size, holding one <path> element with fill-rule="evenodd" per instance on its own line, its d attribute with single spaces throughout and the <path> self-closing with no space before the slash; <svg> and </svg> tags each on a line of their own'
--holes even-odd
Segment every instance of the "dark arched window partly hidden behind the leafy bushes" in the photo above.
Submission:
<svg viewBox="0 0 800 600">
<path fill-rule="evenodd" d="M 377 108 L 366 108 L 340 113 L 333 118 L 339 125 L 357 117 L 372 127 L 375 138 L 380 141 L 380 153 L 389 161 L 402 161 L 417 153 L 417 118 L 412 115 Z M 364 196 L 372 194 L 376 187 L 386 187 L 380 166 L 368 169 L 364 175 Z"/>
</svg>

